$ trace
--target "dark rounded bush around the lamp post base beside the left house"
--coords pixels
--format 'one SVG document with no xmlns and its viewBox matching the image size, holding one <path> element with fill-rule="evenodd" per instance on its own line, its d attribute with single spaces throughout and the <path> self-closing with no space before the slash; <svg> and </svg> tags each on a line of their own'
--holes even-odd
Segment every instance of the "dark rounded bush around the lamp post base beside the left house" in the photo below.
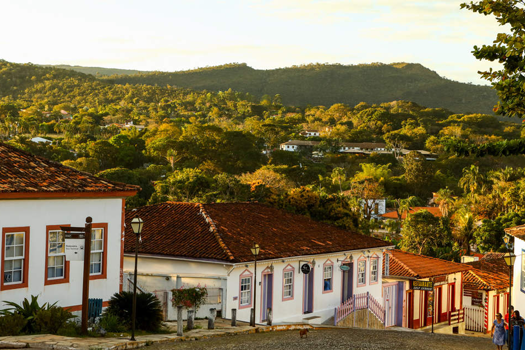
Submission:
<svg viewBox="0 0 525 350">
<path fill-rule="evenodd" d="M 109 300 L 104 316 L 117 316 L 127 327 L 131 327 L 133 293 L 115 293 Z M 158 331 L 162 326 L 162 308 L 159 299 L 153 294 L 137 294 L 137 329 Z"/>
</svg>

